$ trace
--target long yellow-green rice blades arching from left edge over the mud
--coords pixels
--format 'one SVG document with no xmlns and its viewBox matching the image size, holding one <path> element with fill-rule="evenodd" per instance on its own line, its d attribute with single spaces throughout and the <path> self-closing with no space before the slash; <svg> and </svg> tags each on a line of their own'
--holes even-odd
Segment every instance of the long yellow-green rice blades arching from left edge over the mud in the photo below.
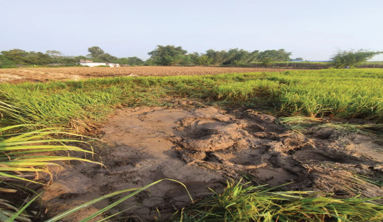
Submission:
<svg viewBox="0 0 383 222">
<path fill-rule="evenodd" d="M 38 153 L 55 151 L 77 151 L 81 153 L 93 154 L 93 151 L 87 151 L 77 146 L 69 146 L 64 143 L 81 142 L 77 139 L 53 139 L 51 135 L 80 136 L 65 132 L 60 128 L 45 128 L 26 133 L 6 135 L 7 130 L 15 130 L 24 125 L 8 126 L 0 128 L 0 176 L 5 178 L 14 178 L 28 182 L 36 182 L 26 178 L 37 176 L 38 173 L 47 173 L 51 175 L 49 167 L 59 165 L 56 161 L 81 160 L 84 162 L 93 162 L 84 158 L 70 156 L 38 155 Z M 86 143 L 86 142 L 81 142 Z M 100 163 L 98 163 L 100 164 Z M 36 182 L 39 183 L 39 182 Z"/>
</svg>

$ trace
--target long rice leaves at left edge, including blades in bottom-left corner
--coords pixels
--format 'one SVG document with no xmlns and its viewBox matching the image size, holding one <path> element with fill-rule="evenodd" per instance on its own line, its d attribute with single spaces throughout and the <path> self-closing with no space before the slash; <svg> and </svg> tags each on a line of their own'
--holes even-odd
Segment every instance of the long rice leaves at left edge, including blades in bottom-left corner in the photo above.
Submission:
<svg viewBox="0 0 383 222">
<path fill-rule="evenodd" d="M 79 137 L 80 135 L 64 131 L 62 128 L 43 128 L 24 133 L 15 131 L 25 125 L 0 128 L 0 192 L 14 193 L 15 189 L 7 188 L 6 182 L 33 182 L 44 185 L 45 182 L 36 181 L 40 174 L 46 174 L 52 180 L 52 167 L 61 167 L 58 161 L 77 160 L 101 164 L 92 160 L 71 157 L 70 152 L 88 153 L 93 155 L 93 149 L 87 151 L 66 143 L 84 143 L 78 139 L 55 139 L 55 135 Z M 12 133 L 9 133 L 12 132 Z M 68 156 L 47 155 L 56 151 L 65 151 Z M 45 153 L 45 154 L 42 154 Z M 102 164 L 101 164 L 102 165 Z M 17 208 L 7 200 L 0 199 L 0 219 L 10 216 Z M 25 213 L 20 213 L 16 221 L 29 221 Z M 1 220 L 3 221 L 3 220 Z"/>
</svg>

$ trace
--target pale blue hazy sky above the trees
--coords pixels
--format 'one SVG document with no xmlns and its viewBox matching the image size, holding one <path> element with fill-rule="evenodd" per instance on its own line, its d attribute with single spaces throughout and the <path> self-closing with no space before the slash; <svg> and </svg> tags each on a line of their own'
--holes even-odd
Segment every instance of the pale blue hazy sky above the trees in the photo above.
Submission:
<svg viewBox="0 0 383 222">
<path fill-rule="evenodd" d="M 382 0 L 0 0 L 0 51 L 57 50 L 149 58 L 157 45 L 285 49 L 329 60 L 338 50 L 383 51 Z M 373 60 L 383 61 L 383 55 Z"/>
</svg>

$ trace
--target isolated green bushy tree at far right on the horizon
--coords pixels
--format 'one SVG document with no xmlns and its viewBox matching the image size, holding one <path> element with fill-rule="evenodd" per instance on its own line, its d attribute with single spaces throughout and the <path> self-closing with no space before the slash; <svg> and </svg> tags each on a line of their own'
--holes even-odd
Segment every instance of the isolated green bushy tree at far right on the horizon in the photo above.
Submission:
<svg viewBox="0 0 383 222">
<path fill-rule="evenodd" d="M 367 51 L 365 49 L 359 49 L 358 51 L 337 51 L 331 57 L 331 60 L 333 60 L 332 64 L 336 68 L 354 67 L 381 53 L 383 51 Z"/>
</svg>

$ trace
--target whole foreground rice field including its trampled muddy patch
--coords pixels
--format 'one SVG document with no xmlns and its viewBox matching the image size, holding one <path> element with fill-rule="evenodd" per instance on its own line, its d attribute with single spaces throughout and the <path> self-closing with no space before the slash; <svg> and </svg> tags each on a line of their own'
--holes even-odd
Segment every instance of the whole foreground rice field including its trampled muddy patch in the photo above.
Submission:
<svg viewBox="0 0 383 222">
<path fill-rule="evenodd" d="M 24 206 L 24 221 L 381 221 L 381 76 L 354 69 L 0 84 L 0 173 L 11 173 L 0 213 Z M 6 184 L 16 179 L 27 189 Z"/>
</svg>

